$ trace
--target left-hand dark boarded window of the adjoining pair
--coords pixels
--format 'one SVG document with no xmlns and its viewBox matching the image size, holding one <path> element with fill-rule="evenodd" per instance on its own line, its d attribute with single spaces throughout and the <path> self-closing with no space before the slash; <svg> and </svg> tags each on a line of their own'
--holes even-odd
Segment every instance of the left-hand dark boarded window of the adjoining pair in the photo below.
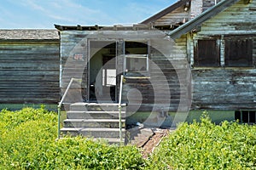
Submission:
<svg viewBox="0 0 256 170">
<path fill-rule="evenodd" d="M 195 47 L 195 66 L 219 66 L 219 47 L 216 40 L 198 40 Z"/>
</svg>

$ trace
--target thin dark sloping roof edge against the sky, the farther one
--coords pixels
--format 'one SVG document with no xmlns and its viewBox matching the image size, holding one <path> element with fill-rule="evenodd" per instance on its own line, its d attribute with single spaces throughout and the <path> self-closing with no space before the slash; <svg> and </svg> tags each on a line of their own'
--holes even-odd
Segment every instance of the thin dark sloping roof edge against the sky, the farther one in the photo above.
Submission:
<svg viewBox="0 0 256 170">
<path fill-rule="evenodd" d="M 154 20 L 158 20 L 160 19 L 162 16 L 172 13 L 172 11 L 174 11 L 176 8 L 179 8 L 183 5 L 185 5 L 186 3 L 189 3 L 191 0 L 180 0 L 177 1 L 177 3 L 172 4 L 171 6 L 161 10 L 159 13 L 154 14 L 153 16 L 151 16 L 150 18 L 148 18 L 147 20 L 143 20 L 143 22 L 141 22 L 141 24 L 150 24 L 152 22 L 154 22 Z"/>
</svg>

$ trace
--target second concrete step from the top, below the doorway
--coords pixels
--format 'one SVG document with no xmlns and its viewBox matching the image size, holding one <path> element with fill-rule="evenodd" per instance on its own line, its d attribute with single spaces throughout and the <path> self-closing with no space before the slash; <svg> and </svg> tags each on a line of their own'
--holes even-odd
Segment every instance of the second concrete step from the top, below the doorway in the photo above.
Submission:
<svg viewBox="0 0 256 170">
<path fill-rule="evenodd" d="M 121 111 L 125 118 L 125 111 Z M 119 111 L 67 111 L 68 119 L 119 119 Z"/>
</svg>

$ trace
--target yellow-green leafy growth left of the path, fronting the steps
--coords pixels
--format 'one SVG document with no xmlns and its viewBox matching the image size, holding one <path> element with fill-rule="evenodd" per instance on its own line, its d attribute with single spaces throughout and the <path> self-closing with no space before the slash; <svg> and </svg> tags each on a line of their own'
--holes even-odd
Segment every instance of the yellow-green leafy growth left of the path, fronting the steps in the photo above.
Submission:
<svg viewBox="0 0 256 170">
<path fill-rule="evenodd" d="M 82 137 L 56 139 L 57 116 L 44 108 L 0 112 L 0 169 L 141 169 L 134 146 Z"/>
</svg>

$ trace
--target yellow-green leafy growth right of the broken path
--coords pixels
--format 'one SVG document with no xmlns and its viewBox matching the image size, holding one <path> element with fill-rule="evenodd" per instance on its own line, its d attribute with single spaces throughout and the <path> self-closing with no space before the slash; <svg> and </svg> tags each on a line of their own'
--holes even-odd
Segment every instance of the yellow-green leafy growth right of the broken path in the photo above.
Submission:
<svg viewBox="0 0 256 170">
<path fill-rule="evenodd" d="M 183 123 L 150 157 L 150 169 L 256 169 L 256 127 L 237 122 Z"/>
</svg>

